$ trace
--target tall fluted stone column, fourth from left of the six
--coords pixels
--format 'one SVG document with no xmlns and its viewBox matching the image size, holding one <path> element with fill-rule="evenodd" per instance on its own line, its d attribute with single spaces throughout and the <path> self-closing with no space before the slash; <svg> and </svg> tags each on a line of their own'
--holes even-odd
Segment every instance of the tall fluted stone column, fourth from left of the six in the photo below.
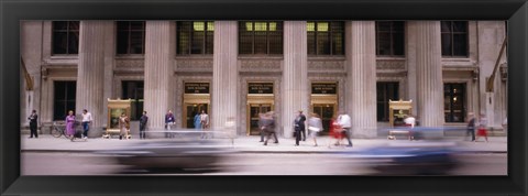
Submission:
<svg viewBox="0 0 528 196">
<path fill-rule="evenodd" d="M 309 111 L 309 81 L 306 21 L 284 22 L 283 130 L 293 135 L 294 119 L 300 109 Z"/>
</svg>

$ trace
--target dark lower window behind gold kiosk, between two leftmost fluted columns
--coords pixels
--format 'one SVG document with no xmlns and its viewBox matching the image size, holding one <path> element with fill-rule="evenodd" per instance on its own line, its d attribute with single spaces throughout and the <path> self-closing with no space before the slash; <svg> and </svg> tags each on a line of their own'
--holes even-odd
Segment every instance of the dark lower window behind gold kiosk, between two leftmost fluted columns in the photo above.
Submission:
<svg viewBox="0 0 528 196">
<path fill-rule="evenodd" d="M 122 98 L 131 99 L 132 107 L 130 118 L 139 120 L 143 115 L 143 81 L 139 80 L 123 80 L 122 83 Z"/>
</svg>

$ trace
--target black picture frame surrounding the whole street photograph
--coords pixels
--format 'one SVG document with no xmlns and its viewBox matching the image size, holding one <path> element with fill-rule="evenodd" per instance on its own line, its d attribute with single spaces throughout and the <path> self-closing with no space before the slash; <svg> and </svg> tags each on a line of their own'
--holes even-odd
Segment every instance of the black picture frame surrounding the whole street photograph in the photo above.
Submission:
<svg viewBox="0 0 528 196">
<path fill-rule="evenodd" d="M 0 194 L 526 195 L 527 18 L 526 0 L 0 1 Z M 321 19 L 508 20 L 508 176 L 20 176 L 20 21 Z"/>
</svg>

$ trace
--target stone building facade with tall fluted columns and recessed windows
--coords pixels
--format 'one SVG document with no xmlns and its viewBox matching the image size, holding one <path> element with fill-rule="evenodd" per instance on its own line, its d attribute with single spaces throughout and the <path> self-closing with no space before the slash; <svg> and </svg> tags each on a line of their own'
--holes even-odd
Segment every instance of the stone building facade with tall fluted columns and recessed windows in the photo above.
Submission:
<svg viewBox="0 0 528 196">
<path fill-rule="evenodd" d="M 140 39 L 134 24 L 120 21 L 21 22 L 22 59 L 34 84 L 32 90 L 21 87 L 21 127 L 33 109 L 41 131 L 67 109 L 88 109 L 95 117 L 89 137 L 99 137 L 108 123 L 107 98 L 132 98 L 135 116 L 148 112 L 150 130 L 163 129 L 168 109 L 177 128 L 191 128 L 193 113 L 206 110 L 211 129 L 233 117 L 237 135 L 254 134 L 255 115 L 273 110 L 279 135 L 290 138 L 298 110 L 317 112 L 326 123 L 345 111 L 353 137 L 374 138 L 389 126 L 384 102 L 411 99 L 420 126 L 464 126 L 474 112 L 504 132 L 507 55 L 493 92 L 486 92 L 486 80 L 506 36 L 505 21 L 462 21 L 462 30 L 452 23 L 448 32 L 451 23 L 444 21 L 402 21 L 402 30 L 387 32 L 383 25 L 392 23 L 376 21 L 339 21 L 336 30 L 320 21 L 139 22 Z M 262 54 L 258 30 L 267 33 Z M 242 40 L 253 44 L 250 52 Z M 463 55 L 444 54 L 446 44 Z M 395 47 L 402 50 L 381 52 Z"/>
</svg>

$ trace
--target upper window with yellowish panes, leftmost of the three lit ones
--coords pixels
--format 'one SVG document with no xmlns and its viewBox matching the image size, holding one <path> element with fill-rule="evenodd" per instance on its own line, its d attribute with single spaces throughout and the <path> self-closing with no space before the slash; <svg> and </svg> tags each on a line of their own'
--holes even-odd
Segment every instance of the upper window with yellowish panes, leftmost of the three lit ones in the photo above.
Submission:
<svg viewBox="0 0 528 196">
<path fill-rule="evenodd" d="M 212 54 L 215 22 L 212 21 L 183 21 L 176 23 L 176 53 Z"/>
</svg>

